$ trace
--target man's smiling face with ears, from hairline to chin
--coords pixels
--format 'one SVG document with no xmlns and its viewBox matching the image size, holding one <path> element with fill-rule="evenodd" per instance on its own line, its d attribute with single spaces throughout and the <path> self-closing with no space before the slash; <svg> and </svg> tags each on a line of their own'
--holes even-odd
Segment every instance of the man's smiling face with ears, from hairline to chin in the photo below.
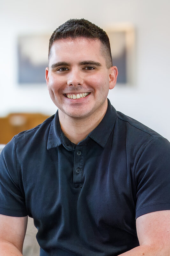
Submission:
<svg viewBox="0 0 170 256">
<path fill-rule="evenodd" d="M 51 47 L 49 69 L 46 68 L 49 94 L 59 111 L 69 117 L 100 114 L 102 106 L 107 106 L 117 68 L 106 68 L 100 49 L 99 40 L 84 37 L 59 39 Z"/>
</svg>

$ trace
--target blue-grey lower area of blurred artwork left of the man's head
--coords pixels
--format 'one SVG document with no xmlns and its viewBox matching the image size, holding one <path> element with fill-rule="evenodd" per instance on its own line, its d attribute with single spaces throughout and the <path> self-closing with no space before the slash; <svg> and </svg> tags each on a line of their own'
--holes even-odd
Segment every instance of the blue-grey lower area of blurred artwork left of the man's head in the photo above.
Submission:
<svg viewBox="0 0 170 256">
<path fill-rule="evenodd" d="M 33 65 L 29 58 L 23 56 L 18 46 L 18 83 L 19 84 L 36 84 L 46 83 L 45 69 L 48 62 L 41 65 Z"/>
</svg>

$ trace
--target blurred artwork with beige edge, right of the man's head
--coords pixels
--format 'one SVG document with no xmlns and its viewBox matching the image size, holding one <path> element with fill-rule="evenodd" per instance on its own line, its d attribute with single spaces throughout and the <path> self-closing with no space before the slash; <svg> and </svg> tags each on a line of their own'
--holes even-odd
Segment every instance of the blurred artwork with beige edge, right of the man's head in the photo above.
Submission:
<svg viewBox="0 0 170 256">
<path fill-rule="evenodd" d="M 135 80 L 135 29 L 120 24 L 105 29 L 110 40 L 113 66 L 118 68 L 117 83 L 133 85 Z"/>
</svg>

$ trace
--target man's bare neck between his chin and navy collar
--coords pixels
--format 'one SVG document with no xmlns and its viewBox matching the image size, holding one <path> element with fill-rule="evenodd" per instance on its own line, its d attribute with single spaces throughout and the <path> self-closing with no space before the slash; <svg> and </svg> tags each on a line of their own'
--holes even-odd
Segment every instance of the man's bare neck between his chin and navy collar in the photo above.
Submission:
<svg viewBox="0 0 170 256">
<path fill-rule="evenodd" d="M 58 116 L 60 121 L 61 129 L 64 135 L 73 143 L 78 144 L 81 140 L 84 140 L 87 135 L 92 132 L 101 120 L 105 116 L 107 111 L 107 101 L 96 112 L 90 116 L 83 118 L 75 118 L 67 116 L 60 109 L 58 109 Z"/>
</svg>

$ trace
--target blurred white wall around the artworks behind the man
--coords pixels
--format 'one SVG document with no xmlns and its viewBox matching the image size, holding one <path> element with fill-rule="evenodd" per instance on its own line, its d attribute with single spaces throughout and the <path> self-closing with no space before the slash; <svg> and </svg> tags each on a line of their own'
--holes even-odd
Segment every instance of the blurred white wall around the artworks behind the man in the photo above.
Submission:
<svg viewBox="0 0 170 256">
<path fill-rule="evenodd" d="M 18 34 L 49 33 L 70 18 L 85 18 L 102 28 L 130 22 L 136 29 L 136 83 L 109 92 L 113 106 L 170 140 L 169 0 L 3 0 L 0 8 L 0 116 L 56 111 L 46 86 L 17 84 Z M 48 52 L 47 52 L 48 54 Z"/>
</svg>

